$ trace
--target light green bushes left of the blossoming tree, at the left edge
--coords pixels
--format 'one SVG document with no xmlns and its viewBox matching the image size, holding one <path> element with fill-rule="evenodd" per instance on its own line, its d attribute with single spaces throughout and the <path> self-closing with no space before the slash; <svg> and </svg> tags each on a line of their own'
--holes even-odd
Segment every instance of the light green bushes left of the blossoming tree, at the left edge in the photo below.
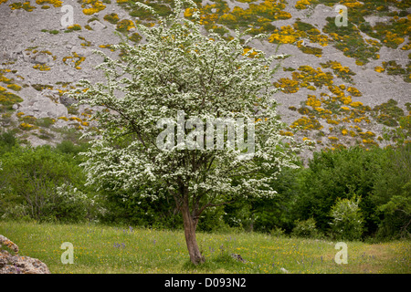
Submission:
<svg viewBox="0 0 411 292">
<path fill-rule="evenodd" d="M 84 184 L 84 175 L 72 155 L 50 146 L 16 146 L 0 162 L 2 218 L 61 222 L 90 218 L 91 201 L 76 189 Z"/>
</svg>

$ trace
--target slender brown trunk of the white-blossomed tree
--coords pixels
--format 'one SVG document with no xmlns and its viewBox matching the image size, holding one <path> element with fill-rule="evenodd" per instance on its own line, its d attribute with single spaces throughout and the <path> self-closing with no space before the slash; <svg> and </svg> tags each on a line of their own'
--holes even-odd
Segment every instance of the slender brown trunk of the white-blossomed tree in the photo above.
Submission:
<svg viewBox="0 0 411 292">
<path fill-rule="evenodd" d="M 181 212 L 183 214 L 185 243 L 187 244 L 190 260 L 195 265 L 204 263 L 205 257 L 201 255 L 200 250 L 198 249 L 197 240 L 195 239 L 195 228 L 198 219 L 192 217 L 188 205 L 182 206 Z"/>
</svg>

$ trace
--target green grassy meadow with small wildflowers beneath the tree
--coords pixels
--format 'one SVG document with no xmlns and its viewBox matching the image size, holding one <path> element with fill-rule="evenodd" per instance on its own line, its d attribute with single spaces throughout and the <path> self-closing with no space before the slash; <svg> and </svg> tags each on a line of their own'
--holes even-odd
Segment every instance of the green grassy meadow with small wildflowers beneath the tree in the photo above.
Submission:
<svg viewBox="0 0 411 292">
<path fill-rule="evenodd" d="M 205 264 L 189 262 L 183 231 L 94 224 L 0 222 L 0 234 L 35 257 L 51 273 L 410 273 L 411 243 L 346 242 L 348 264 L 333 261 L 335 242 L 257 233 L 198 233 Z M 74 264 L 63 265 L 60 245 L 74 247 Z M 239 254 L 247 262 L 234 260 Z"/>
</svg>

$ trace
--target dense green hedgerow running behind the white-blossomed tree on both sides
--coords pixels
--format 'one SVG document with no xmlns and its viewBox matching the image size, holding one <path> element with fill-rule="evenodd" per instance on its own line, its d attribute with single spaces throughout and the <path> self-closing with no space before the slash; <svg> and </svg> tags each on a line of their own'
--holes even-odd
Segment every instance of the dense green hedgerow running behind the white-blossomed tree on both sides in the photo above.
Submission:
<svg viewBox="0 0 411 292">
<path fill-rule="evenodd" d="M 182 227 L 174 202 L 160 190 L 152 191 L 150 198 L 142 197 L 149 184 L 122 193 L 84 188 L 78 154 L 87 147 L 63 141 L 55 148 L 25 149 L 13 132 L 1 133 L 0 217 Z M 406 144 L 316 152 L 308 167 L 281 172 L 273 185 L 277 196 L 207 210 L 198 229 L 281 231 L 282 235 L 349 240 L 404 237 L 410 233 L 411 220 L 410 150 Z M 36 195 L 38 201 L 33 201 Z"/>
</svg>

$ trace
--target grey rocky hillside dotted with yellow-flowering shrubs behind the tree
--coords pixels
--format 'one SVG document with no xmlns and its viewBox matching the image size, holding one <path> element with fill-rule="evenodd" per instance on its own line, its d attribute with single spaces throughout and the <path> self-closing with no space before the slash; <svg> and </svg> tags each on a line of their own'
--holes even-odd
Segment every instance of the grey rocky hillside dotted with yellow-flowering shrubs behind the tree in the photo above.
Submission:
<svg viewBox="0 0 411 292">
<path fill-rule="evenodd" d="M 316 149 L 370 147 L 410 140 L 411 4 L 396 0 L 195 1 L 205 28 L 229 36 L 236 27 L 265 33 L 252 46 L 290 54 L 273 85 L 283 135 L 310 139 Z M 173 1 L 145 1 L 160 16 Z M 337 4 L 347 26 L 336 26 Z M 62 26 L 73 8 L 72 26 Z M 193 11 L 186 9 L 184 16 Z M 92 130 L 92 109 L 65 92 L 94 69 L 120 32 L 143 41 L 137 24 L 153 18 L 125 0 L 0 0 L 0 127 L 34 146 L 76 141 Z M 278 45 L 280 45 L 278 47 Z"/>
</svg>

